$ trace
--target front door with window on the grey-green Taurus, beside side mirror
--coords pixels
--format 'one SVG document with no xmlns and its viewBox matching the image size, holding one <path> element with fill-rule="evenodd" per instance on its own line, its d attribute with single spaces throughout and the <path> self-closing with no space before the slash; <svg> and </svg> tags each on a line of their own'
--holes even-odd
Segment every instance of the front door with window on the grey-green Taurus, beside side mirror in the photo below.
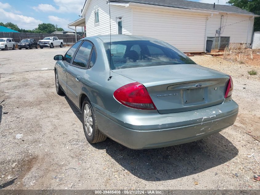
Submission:
<svg viewBox="0 0 260 195">
<path fill-rule="evenodd" d="M 67 75 L 66 69 L 72 63 L 72 58 L 77 50 L 78 46 L 82 43 L 82 41 L 78 41 L 75 43 L 63 56 L 63 60 L 57 61 L 56 70 L 58 73 L 59 84 L 62 87 L 63 91 L 67 94 Z"/>
</svg>

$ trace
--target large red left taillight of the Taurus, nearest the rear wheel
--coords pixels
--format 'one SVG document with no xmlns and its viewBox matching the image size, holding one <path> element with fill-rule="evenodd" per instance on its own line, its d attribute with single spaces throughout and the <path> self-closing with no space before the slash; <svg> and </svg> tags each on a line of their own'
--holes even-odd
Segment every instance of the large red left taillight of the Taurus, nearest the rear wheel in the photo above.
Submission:
<svg viewBox="0 0 260 195">
<path fill-rule="evenodd" d="M 118 88 L 114 97 L 123 105 L 136 109 L 156 109 L 146 88 L 138 82 Z"/>
</svg>

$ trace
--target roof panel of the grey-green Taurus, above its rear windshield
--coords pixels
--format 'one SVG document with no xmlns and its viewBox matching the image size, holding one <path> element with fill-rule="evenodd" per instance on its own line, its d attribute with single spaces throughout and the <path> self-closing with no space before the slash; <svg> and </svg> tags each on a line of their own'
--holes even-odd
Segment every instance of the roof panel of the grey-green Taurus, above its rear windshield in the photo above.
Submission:
<svg viewBox="0 0 260 195">
<path fill-rule="evenodd" d="M 97 35 L 97 36 L 90 36 L 90 37 L 101 39 L 104 43 L 110 42 L 110 35 Z M 83 38 L 83 40 L 88 39 L 90 37 Z M 153 39 L 150 37 L 141 37 L 141 36 L 133 36 L 133 35 L 111 35 L 111 42 L 134 41 L 134 40 L 159 41 L 158 39 Z"/>
</svg>

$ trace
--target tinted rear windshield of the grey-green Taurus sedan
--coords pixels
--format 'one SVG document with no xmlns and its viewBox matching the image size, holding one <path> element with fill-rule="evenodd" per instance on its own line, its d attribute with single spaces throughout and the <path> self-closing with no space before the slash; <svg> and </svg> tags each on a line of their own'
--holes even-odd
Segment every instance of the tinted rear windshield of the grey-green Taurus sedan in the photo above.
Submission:
<svg viewBox="0 0 260 195">
<path fill-rule="evenodd" d="M 110 42 L 104 43 L 110 62 Z M 111 42 L 110 68 L 122 69 L 174 64 L 196 64 L 181 51 L 162 41 Z"/>
</svg>

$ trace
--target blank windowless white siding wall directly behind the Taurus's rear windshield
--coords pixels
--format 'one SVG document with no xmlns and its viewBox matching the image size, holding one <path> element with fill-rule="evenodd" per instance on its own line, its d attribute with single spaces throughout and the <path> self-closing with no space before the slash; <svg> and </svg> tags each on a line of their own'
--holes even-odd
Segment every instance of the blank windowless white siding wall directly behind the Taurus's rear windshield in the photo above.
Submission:
<svg viewBox="0 0 260 195">
<path fill-rule="evenodd" d="M 133 9 L 133 35 L 160 39 L 182 52 L 203 52 L 207 15 Z"/>
</svg>

